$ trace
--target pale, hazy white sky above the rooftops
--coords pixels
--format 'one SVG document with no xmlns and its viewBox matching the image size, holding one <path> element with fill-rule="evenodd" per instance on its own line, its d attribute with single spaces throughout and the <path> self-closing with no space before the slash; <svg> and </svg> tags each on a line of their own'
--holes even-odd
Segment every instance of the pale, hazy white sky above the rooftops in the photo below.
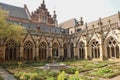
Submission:
<svg viewBox="0 0 120 80">
<path fill-rule="evenodd" d="M 0 0 L 14 6 L 23 7 L 27 4 L 30 12 L 35 11 L 43 0 Z M 45 0 L 46 7 L 51 15 L 56 10 L 58 22 L 64 22 L 72 18 L 84 22 L 91 22 L 117 14 L 120 10 L 120 0 Z"/>
</svg>

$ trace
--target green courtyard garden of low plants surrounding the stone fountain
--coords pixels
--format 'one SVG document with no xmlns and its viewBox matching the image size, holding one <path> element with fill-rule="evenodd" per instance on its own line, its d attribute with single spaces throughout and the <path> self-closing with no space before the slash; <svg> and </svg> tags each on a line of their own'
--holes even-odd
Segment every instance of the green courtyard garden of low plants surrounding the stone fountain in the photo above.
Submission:
<svg viewBox="0 0 120 80">
<path fill-rule="evenodd" d="M 16 80 L 116 80 L 120 75 L 119 62 L 66 60 L 58 61 L 66 64 L 62 70 L 42 69 L 47 63 L 51 61 L 6 62 L 0 66 Z M 4 80 L 4 76 L 1 75 L 0 80 Z"/>
</svg>

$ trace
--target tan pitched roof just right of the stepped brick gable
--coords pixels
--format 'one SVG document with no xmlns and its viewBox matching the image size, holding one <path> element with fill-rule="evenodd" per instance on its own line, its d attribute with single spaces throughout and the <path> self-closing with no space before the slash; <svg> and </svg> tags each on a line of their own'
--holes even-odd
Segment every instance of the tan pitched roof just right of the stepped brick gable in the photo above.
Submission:
<svg viewBox="0 0 120 80">
<path fill-rule="evenodd" d="M 70 19 L 68 21 L 65 21 L 63 23 L 60 23 L 59 24 L 59 27 L 62 27 L 62 28 L 70 28 L 70 27 L 75 27 L 77 25 L 77 20 L 75 18 L 73 19 Z"/>
</svg>

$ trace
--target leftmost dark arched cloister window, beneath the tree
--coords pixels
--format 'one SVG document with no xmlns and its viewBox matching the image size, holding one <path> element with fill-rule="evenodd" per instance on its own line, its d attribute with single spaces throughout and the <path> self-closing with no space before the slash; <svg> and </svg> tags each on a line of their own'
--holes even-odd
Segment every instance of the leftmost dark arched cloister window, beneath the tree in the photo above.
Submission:
<svg viewBox="0 0 120 80">
<path fill-rule="evenodd" d="M 6 43 L 6 49 L 5 49 L 5 60 L 11 61 L 11 60 L 17 60 L 18 54 L 17 54 L 17 44 L 14 40 L 9 40 Z"/>
</svg>

